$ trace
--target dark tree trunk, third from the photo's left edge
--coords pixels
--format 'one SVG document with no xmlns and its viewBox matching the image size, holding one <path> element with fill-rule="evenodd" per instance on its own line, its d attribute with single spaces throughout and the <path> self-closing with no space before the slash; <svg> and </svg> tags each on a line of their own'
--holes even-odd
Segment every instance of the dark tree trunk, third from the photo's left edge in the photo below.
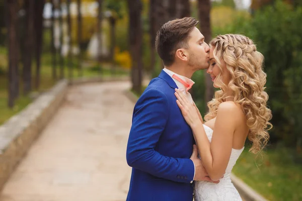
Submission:
<svg viewBox="0 0 302 201">
<path fill-rule="evenodd" d="M 43 41 L 43 9 L 45 0 L 35 0 L 35 53 L 36 53 L 36 74 L 35 74 L 35 89 L 38 90 L 40 86 L 40 66 L 41 66 L 41 53 Z"/>
</svg>

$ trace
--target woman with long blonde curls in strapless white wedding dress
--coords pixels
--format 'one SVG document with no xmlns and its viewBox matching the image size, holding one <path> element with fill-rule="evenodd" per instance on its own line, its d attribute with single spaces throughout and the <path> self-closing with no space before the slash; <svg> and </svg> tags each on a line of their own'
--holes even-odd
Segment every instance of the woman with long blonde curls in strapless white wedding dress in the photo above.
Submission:
<svg viewBox="0 0 302 201">
<path fill-rule="evenodd" d="M 202 164 L 212 180 L 220 179 L 218 184 L 196 181 L 195 200 L 241 200 L 231 182 L 232 168 L 244 150 L 246 138 L 252 142 L 249 151 L 258 153 L 267 144 L 267 130 L 272 127 L 264 91 L 264 58 L 252 40 L 242 35 L 217 36 L 210 46 L 206 72 L 220 90 L 208 103 L 205 123 L 195 104 L 175 89 L 177 104 L 193 131 Z"/>
</svg>

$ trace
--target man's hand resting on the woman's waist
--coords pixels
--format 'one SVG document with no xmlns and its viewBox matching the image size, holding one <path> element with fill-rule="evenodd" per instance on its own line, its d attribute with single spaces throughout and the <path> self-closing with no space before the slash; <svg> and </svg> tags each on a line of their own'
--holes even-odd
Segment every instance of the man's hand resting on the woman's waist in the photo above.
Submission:
<svg viewBox="0 0 302 201">
<path fill-rule="evenodd" d="M 213 181 L 208 173 L 206 172 L 205 168 L 202 165 L 201 160 L 198 158 L 198 151 L 196 145 L 193 145 L 193 153 L 190 158 L 194 165 L 195 165 L 195 176 L 194 180 L 195 181 L 209 181 L 209 182 L 214 182 L 214 183 L 219 183 L 218 181 Z"/>
</svg>

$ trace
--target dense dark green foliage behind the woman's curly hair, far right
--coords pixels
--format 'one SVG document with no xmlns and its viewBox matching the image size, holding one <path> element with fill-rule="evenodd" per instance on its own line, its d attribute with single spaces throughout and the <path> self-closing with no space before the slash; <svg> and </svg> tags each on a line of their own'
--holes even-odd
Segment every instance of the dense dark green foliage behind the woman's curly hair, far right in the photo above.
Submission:
<svg viewBox="0 0 302 201">
<path fill-rule="evenodd" d="M 272 142 L 296 147 L 301 152 L 302 134 L 302 8 L 277 1 L 254 17 L 239 15 L 233 23 L 213 29 L 213 35 L 238 33 L 255 41 L 265 57 L 267 92 L 274 129 Z"/>
</svg>

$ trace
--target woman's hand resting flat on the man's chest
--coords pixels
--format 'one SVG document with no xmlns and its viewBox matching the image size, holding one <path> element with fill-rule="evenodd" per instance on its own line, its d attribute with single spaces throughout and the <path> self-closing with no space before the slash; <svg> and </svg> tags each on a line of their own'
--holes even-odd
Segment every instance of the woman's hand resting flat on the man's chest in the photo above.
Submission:
<svg viewBox="0 0 302 201">
<path fill-rule="evenodd" d="M 185 94 L 179 89 L 175 89 L 176 103 L 181 110 L 186 122 L 190 127 L 201 123 L 196 108 L 189 102 Z"/>
</svg>

